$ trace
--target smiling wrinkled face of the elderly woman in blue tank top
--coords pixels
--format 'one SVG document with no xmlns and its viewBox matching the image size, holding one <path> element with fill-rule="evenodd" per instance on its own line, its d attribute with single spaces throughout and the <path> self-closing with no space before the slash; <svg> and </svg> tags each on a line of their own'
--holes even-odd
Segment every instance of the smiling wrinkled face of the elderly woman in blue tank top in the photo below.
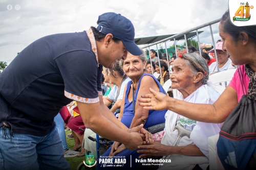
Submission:
<svg viewBox="0 0 256 170">
<path fill-rule="evenodd" d="M 131 79 L 141 77 L 146 65 L 145 62 L 146 61 L 142 62 L 139 56 L 134 56 L 131 53 L 128 53 L 127 58 L 123 61 L 123 70 Z"/>
</svg>

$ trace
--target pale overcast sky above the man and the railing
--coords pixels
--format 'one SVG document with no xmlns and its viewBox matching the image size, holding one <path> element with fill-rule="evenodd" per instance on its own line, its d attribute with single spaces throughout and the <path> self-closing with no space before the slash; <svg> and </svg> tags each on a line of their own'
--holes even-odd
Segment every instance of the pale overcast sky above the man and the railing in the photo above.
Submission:
<svg viewBox="0 0 256 170">
<path fill-rule="evenodd" d="M 9 5 L 12 10 L 7 9 Z M 221 18 L 227 9 L 228 0 L 0 0 L 0 61 L 10 64 L 18 52 L 40 37 L 88 30 L 105 12 L 129 18 L 138 38 L 178 34 Z M 220 39 L 218 26 L 212 25 L 215 42 Z M 199 31 L 204 31 L 200 42 L 212 44 L 209 27 Z"/>
</svg>

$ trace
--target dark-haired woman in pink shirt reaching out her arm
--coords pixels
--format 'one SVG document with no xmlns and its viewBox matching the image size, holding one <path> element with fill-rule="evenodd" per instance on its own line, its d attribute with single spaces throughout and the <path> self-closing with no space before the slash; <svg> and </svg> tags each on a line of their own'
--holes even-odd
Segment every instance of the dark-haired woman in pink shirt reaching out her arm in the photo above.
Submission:
<svg viewBox="0 0 256 170">
<path fill-rule="evenodd" d="M 234 65 L 240 66 L 220 98 L 214 104 L 193 104 L 168 98 L 151 90 L 153 94 L 142 95 L 142 99 L 139 100 L 143 102 L 141 106 L 145 106 L 144 109 L 168 109 L 194 120 L 222 123 L 241 101 L 244 92 L 256 96 L 254 83 L 256 81 L 256 26 L 236 27 L 229 17 L 229 11 L 227 11 L 219 25 L 223 42 L 222 50 L 230 55 Z M 244 87 L 241 82 L 245 85 Z M 221 151 L 218 150 L 218 152 Z"/>
</svg>

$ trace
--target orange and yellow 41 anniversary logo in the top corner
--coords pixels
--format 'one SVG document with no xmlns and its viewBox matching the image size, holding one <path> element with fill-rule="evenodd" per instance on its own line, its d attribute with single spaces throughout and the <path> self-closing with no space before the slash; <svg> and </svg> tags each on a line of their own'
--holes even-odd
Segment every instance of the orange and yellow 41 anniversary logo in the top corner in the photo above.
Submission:
<svg viewBox="0 0 256 170">
<path fill-rule="evenodd" d="M 240 3 L 240 7 L 238 8 L 237 12 L 234 13 L 233 22 L 250 20 L 250 9 L 253 9 L 253 6 L 249 6 L 248 2 L 246 2 L 246 5 L 244 5 L 244 3 Z"/>
</svg>

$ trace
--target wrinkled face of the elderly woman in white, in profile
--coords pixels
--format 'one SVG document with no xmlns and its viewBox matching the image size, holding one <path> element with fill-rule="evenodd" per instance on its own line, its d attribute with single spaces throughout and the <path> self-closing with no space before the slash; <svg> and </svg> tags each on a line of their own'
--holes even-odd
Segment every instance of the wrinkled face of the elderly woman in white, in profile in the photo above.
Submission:
<svg viewBox="0 0 256 170">
<path fill-rule="evenodd" d="M 184 90 L 192 83 L 193 73 L 189 66 L 186 65 L 186 60 L 177 58 L 173 63 L 173 73 L 170 75 L 172 88 Z"/>
</svg>

